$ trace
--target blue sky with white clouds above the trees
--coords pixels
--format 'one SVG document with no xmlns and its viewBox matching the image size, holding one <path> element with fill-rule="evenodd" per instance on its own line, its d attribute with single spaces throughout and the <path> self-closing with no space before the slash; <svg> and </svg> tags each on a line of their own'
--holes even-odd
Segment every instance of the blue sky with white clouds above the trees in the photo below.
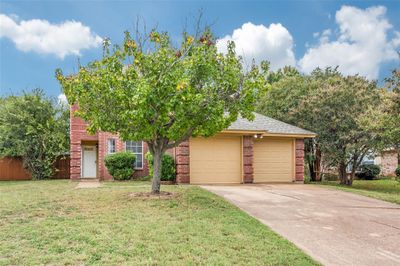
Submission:
<svg viewBox="0 0 400 266">
<path fill-rule="evenodd" d="M 339 65 L 382 80 L 399 67 L 398 1 L 4 1 L 0 2 L 2 95 L 43 88 L 58 96 L 56 68 L 72 73 L 102 54 L 101 38 L 120 43 L 137 16 L 178 38 L 203 10 L 224 50 L 238 43 L 247 60 L 303 72 Z M 190 28 L 190 27 L 189 27 Z"/>
</svg>

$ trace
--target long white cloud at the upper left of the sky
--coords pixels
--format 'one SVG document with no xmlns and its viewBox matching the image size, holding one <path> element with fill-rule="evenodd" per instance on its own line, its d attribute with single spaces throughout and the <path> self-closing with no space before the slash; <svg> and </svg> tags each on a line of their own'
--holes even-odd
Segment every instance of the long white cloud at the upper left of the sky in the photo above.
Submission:
<svg viewBox="0 0 400 266">
<path fill-rule="evenodd" d="M 40 54 L 54 54 L 63 59 L 80 55 L 83 49 L 98 47 L 102 38 L 78 21 L 51 24 L 47 20 L 18 21 L 16 15 L 0 14 L 0 38 L 12 40 L 17 49 Z"/>
</svg>

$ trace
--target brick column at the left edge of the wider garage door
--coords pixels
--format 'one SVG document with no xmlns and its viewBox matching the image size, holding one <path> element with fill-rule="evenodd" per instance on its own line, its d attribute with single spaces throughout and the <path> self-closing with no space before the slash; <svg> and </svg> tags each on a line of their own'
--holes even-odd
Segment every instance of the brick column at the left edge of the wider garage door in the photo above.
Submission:
<svg viewBox="0 0 400 266">
<path fill-rule="evenodd" d="M 189 141 L 182 142 L 176 147 L 176 182 L 190 183 Z"/>
</svg>

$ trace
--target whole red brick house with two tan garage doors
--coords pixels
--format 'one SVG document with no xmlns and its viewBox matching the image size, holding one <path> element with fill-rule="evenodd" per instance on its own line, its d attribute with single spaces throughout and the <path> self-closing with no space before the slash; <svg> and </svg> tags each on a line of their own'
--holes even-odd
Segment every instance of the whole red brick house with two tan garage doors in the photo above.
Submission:
<svg viewBox="0 0 400 266">
<path fill-rule="evenodd" d="M 142 141 L 124 142 L 107 132 L 86 133 L 85 122 L 71 107 L 71 179 L 112 180 L 104 165 L 109 153 L 136 155 L 134 176 L 148 175 Z M 168 152 L 174 156 L 178 183 L 303 182 L 304 138 L 315 134 L 255 114 L 254 121 L 239 118 L 227 130 L 210 138 L 191 138 Z"/>
</svg>

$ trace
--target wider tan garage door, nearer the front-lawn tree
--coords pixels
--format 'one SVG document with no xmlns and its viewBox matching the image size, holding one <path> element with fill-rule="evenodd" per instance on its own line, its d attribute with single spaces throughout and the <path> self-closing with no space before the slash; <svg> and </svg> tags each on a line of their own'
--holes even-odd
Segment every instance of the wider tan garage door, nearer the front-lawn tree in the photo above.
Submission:
<svg viewBox="0 0 400 266">
<path fill-rule="evenodd" d="M 190 183 L 240 183 L 241 137 L 217 136 L 190 140 Z"/>
</svg>

